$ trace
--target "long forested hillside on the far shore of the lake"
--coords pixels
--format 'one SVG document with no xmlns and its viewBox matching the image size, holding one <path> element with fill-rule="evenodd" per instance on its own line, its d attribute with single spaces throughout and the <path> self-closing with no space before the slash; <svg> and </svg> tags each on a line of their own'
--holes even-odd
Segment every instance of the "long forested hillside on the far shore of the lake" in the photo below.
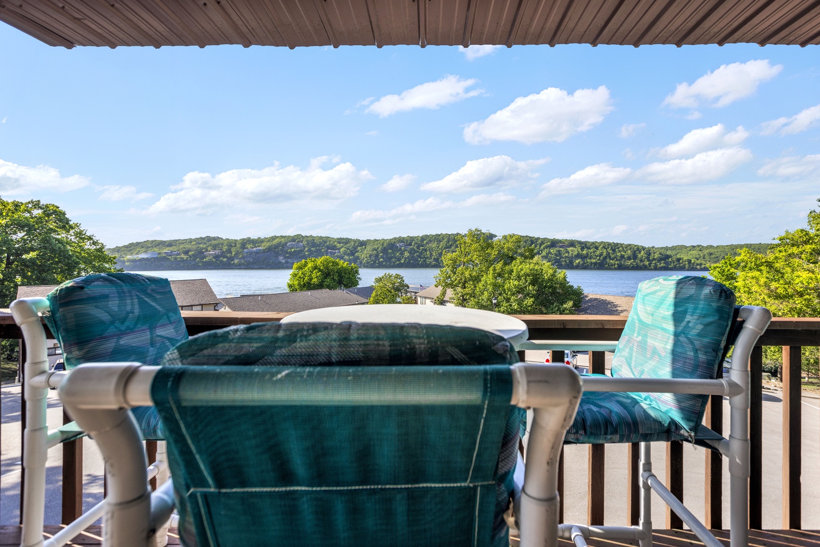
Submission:
<svg viewBox="0 0 820 547">
<path fill-rule="evenodd" d="M 273 235 L 266 238 L 150 239 L 107 249 L 125 270 L 290 268 L 303 258 L 330 255 L 360 267 L 440 267 L 441 254 L 455 246 L 455 234 L 410 235 L 389 239 Z M 525 236 L 536 254 L 560 268 L 608 270 L 705 270 L 739 248 L 765 252 L 768 244 L 635 244 Z M 301 245 L 301 246 L 300 246 Z M 163 254 L 168 253 L 168 256 Z M 157 258 L 135 258 L 158 253 Z"/>
</svg>

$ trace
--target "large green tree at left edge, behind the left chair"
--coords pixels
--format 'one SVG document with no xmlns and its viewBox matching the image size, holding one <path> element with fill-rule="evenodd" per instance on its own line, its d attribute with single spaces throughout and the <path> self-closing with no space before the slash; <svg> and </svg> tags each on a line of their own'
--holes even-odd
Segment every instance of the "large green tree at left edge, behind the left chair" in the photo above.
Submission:
<svg viewBox="0 0 820 547">
<path fill-rule="evenodd" d="M 115 260 L 57 205 L 0 198 L 3 308 L 16 298 L 19 285 L 57 285 L 79 276 L 117 271 Z"/>
</svg>

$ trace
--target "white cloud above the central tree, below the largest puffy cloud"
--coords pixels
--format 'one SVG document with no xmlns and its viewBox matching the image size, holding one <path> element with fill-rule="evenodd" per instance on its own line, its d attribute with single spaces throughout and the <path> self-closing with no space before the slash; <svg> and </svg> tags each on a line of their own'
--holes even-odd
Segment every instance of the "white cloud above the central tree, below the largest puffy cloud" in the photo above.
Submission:
<svg viewBox="0 0 820 547">
<path fill-rule="evenodd" d="M 506 188 L 526 184 L 538 176 L 533 170 L 544 165 L 549 159 L 516 162 L 509 156 L 484 157 L 471 160 L 464 166 L 445 176 L 421 185 L 422 190 L 431 192 L 467 192 L 490 187 Z"/>
</svg>

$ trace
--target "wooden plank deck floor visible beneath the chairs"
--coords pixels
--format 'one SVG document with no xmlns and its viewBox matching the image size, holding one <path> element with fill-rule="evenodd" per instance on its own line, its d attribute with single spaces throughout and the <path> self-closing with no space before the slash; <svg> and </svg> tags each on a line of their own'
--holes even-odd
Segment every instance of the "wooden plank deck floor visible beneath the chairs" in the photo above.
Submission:
<svg viewBox="0 0 820 547">
<path fill-rule="evenodd" d="M 80 536 L 66 545 L 100 545 L 102 526 L 89 526 Z M 61 526 L 46 526 L 46 536 L 59 531 Z M 180 538 L 171 530 L 168 535 L 168 545 L 180 545 Z M 715 531 L 715 536 L 729 545 L 728 531 Z M 618 545 L 638 545 L 638 542 L 590 540 L 590 547 L 617 547 Z M 0 526 L 0 547 L 16 547 L 20 545 L 20 526 Z M 572 541 L 562 540 L 561 547 L 570 547 Z M 689 545 L 703 545 L 690 531 L 683 530 L 656 530 L 654 545 L 657 547 L 688 547 Z M 749 533 L 750 547 L 820 547 L 820 531 L 799 530 L 753 530 Z M 518 547 L 518 541 L 511 538 L 510 547 Z"/>
</svg>

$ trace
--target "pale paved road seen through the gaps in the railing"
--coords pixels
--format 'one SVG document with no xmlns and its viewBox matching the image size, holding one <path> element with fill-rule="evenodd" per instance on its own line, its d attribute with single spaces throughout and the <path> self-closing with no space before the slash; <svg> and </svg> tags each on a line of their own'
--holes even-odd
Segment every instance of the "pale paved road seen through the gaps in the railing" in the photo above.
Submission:
<svg viewBox="0 0 820 547">
<path fill-rule="evenodd" d="M 532 354 L 531 354 L 532 353 Z M 536 359 L 537 357 L 537 359 Z M 527 358 L 543 362 L 535 352 Z M 585 356 L 579 365 L 585 366 Z M 16 524 L 19 518 L 20 488 L 20 388 L 2 390 L 2 463 L 0 463 L 0 524 Z M 726 417 L 724 431 L 729 431 L 729 406 L 724 403 Z M 49 393 L 48 424 L 62 423 L 62 408 L 56 392 Z M 780 392 L 766 390 L 763 396 L 763 527 L 780 529 L 781 526 L 781 399 Z M 820 529 L 820 401 L 816 395 L 806 394 L 803 404 L 803 527 Z M 103 463 L 93 440 L 84 439 L 84 507 L 98 503 L 103 495 Z M 655 443 L 654 470 L 664 476 L 665 444 Z M 704 449 L 692 445 L 684 447 L 684 501 L 696 517 L 704 516 Z M 588 447 L 567 446 L 565 451 L 565 517 L 567 522 L 586 522 L 586 473 Z M 729 522 L 729 471 L 723 458 L 723 478 L 726 493 L 723 499 L 723 522 Z M 49 451 L 48 493 L 46 523 L 59 524 L 61 505 L 62 450 Z M 626 523 L 626 445 L 611 444 L 606 449 L 605 523 Z M 665 526 L 665 505 L 657 496 L 653 501 L 654 526 Z"/>
</svg>

